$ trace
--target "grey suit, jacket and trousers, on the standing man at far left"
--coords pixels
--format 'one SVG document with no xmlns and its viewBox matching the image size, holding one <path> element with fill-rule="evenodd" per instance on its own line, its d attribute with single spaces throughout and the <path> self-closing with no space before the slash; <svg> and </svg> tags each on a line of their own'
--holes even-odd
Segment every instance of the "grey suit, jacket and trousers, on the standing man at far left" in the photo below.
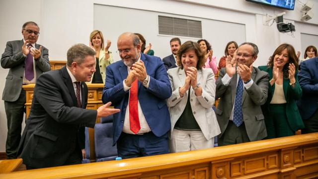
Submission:
<svg viewBox="0 0 318 179">
<path fill-rule="evenodd" d="M 16 157 L 17 147 L 21 138 L 21 123 L 23 120 L 25 91 L 22 90 L 24 66 L 26 57 L 22 54 L 23 40 L 9 41 L 1 56 L 1 67 L 9 69 L 6 77 L 2 100 L 4 100 L 8 133 L 6 140 L 6 155 L 8 159 Z M 35 44 L 39 49 L 40 45 Z M 41 57 L 35 60 L 36 77 L 51 70 L 49 51 L 42 46 Z"/>
</svg>

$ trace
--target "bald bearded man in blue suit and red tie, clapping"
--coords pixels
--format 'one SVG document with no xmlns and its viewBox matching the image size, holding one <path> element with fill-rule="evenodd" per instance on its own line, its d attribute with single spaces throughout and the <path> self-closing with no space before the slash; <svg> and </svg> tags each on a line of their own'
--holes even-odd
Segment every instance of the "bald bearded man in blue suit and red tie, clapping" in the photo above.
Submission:
<svg viewBox="0 0 318 179">
<path fill-rule="evenodd" d="M 102 101 L 121 109 L 113 121 L 118 156 L 168 153 L 170 117 L 165 99 L 171 86 L 164 65 L 159 57 L 140 53 L 134 33 L 121 34 L 117 47 L 122 60 L 107 67 Z"/>
</svg>

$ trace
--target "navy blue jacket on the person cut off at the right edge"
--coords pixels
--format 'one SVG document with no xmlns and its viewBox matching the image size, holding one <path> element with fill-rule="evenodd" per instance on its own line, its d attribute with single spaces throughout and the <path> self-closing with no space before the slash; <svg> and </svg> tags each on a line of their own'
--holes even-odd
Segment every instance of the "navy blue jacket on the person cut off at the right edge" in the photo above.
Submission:
<svg viewBox="0 0 318 179">
<path fill-rule="evenodd" d="M 318 57 L 302 62 L 298 78 L 303 96 L 297 104 L 303 120 L 306 120 L 318 109 Z"/>
</svg>

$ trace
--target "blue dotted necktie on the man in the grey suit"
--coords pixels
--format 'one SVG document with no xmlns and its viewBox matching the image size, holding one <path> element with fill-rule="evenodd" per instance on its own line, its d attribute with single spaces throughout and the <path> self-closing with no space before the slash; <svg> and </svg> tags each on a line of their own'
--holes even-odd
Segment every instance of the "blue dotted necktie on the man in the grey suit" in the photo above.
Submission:
<svg viewBox="0 0 318 179">
<path fill-rule="evenodd" d="M 243 81 L 239 77 L 237 93 L 235 95 L 234 114 L 233 114 L 233 122 L 237 127 L 239 127 L 243 123 L 242 94 L 243 94 Z"/>
</svg>

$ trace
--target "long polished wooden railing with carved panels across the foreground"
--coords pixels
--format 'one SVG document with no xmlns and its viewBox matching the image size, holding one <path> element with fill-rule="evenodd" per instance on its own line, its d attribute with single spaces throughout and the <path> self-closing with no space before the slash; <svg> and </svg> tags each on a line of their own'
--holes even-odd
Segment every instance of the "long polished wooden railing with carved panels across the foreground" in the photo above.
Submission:
<svg viewBox="0 0 318 179">
<path fill-rule="evenodd" d="M 317 177 L 318 133 L 191 152 L 0 175 L 0 179 L 305 179 Z"/>
</svg>

